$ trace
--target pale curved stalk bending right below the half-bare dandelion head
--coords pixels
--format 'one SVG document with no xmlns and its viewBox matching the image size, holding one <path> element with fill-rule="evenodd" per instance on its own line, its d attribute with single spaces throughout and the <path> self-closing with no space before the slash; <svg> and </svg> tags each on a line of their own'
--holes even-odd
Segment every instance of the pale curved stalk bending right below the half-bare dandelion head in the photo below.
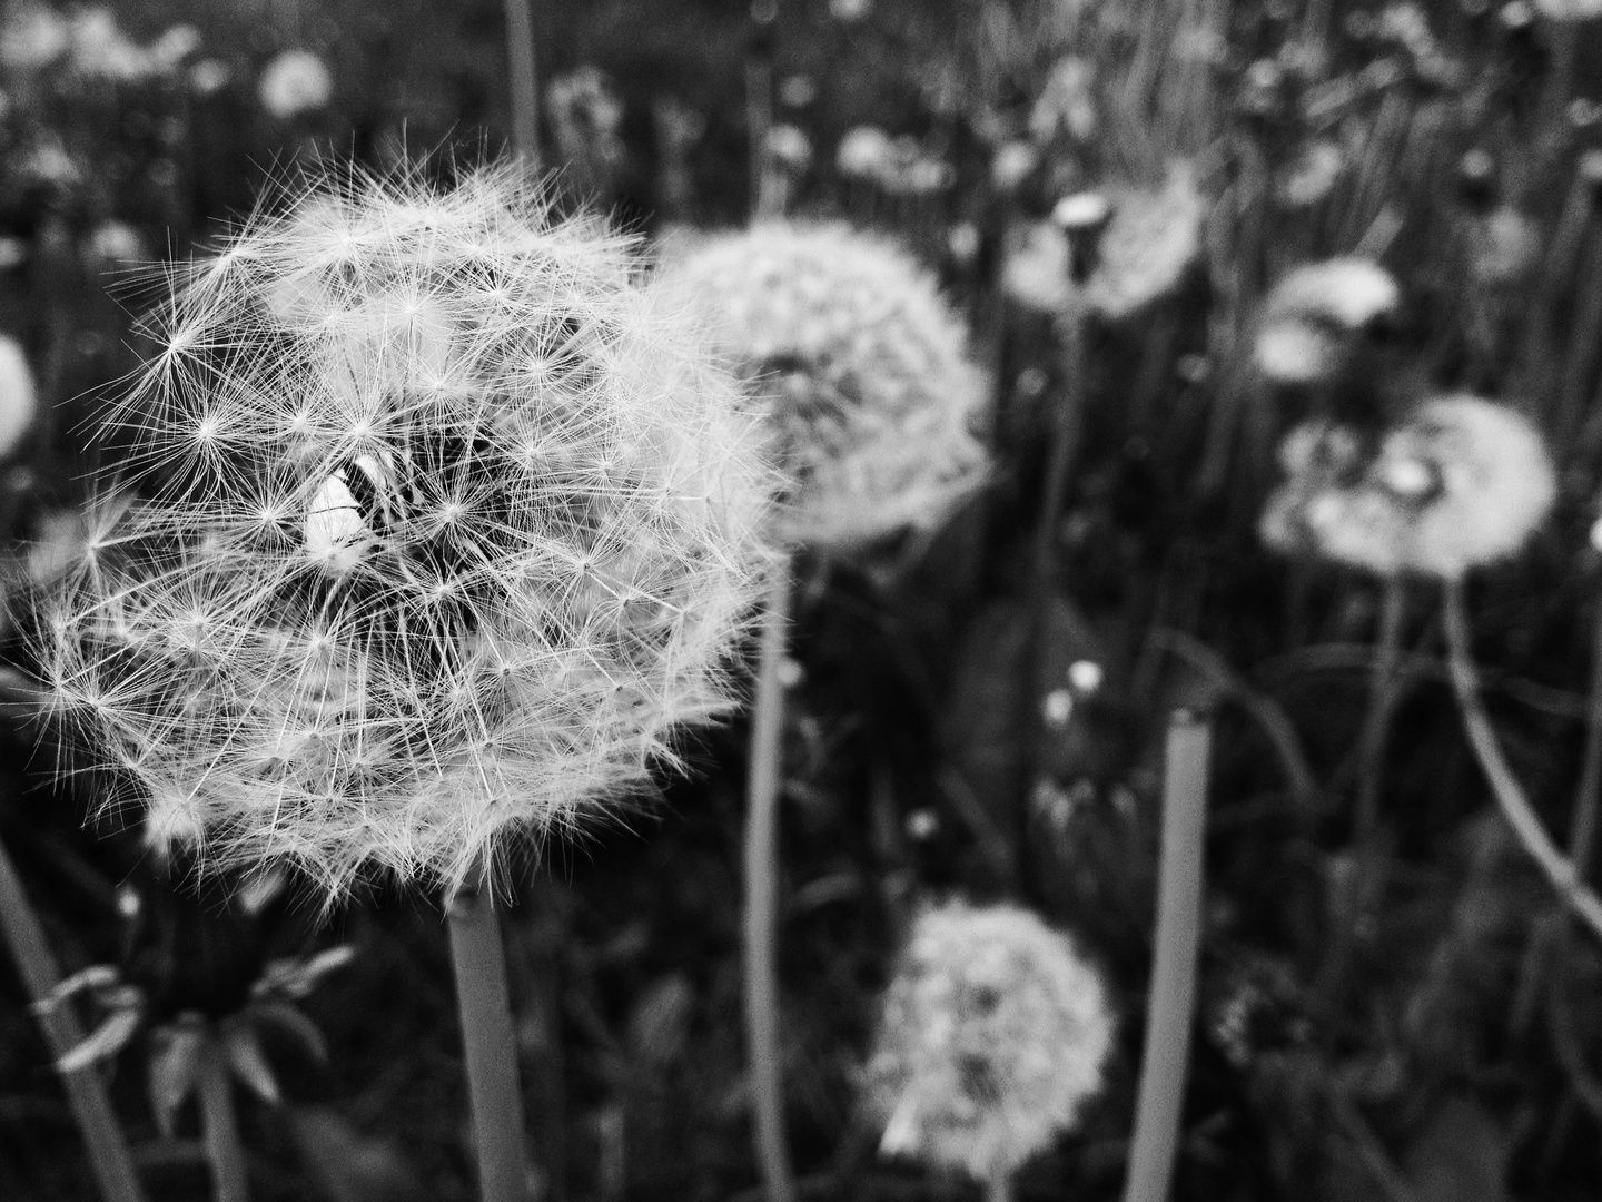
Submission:
<svg viewBox="0 0 1602 1202">
<path fill-rule="evenodd" d="M 1463 726 L 1467 731 L 1469 744 L 1480 761 L 1480 769 L 1491 785 L 1491 795 L 1512 827 L 1512 833 L 1530 853 L 1541 872 L 1557 889 L 1557 894 L 1568 904 L 1580 918 L 1602 938 L 1602 899 L 1597 897 L 1575 870 L 1573 862 L 1557 849 L 1552 837 L 1546 833 L 1541 819 L 1536 816 L 1530 800 L 1524 795 L 1519 777 L 1514 776 L 1501 744 L 1496 742 L 1496 731 L 1491 728 L 1485 707 L 1480 702 L 1479 675 L 1474 670 L 1474 655 L 1469 643 L 1469 615 L 1463 596 L 1461 580 L 1447 580 L 1443 588 L 1447 619 L 1447 657 L 1451 668 L 1451 684 L 1458 694 L 1458 710 L 1463 713 Z"/>
</svg>

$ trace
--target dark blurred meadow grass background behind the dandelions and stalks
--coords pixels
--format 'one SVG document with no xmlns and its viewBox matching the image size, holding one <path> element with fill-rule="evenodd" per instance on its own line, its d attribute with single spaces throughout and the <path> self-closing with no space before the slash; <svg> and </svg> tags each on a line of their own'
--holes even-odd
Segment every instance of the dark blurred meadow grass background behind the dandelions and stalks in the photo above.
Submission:
<svg viewBox="0 0 1602 1202">
<path fill-rule="evenodd" d="M 1559 503 L 1474 575 L 1475 652 L 1517 772 L 1588 864 L 1599 16 L 1560 0 L 533 6 L 564 204 L 671 242 L 742 224 L 761 191 L 769 212 L 894 234 L 971 319 L 993 385 L 984 490 L 937 530 L 798 566 L 780 982 L 804 1197 L 977 1197 L 881 1160 L 859 1103 L 907 915 L 950 891 L 1027 901 L 1105 973 L 1105 1088 L 1017 1192 L 1120 1196 L 1176 707 L 1213 713 L 1214 766 L 1174 1197 L 1602 1191 L 1602 958 L 1490 801 L 1435 590 L 1400 595 L 1363 813 L 1384 587 L 1258 532 L 1275 446 L 1320 405 L 1472 391 L 1541 426 Z M 133 321 L 159 292 L 138 268 L 200 253 L 298 163 L 450 175 L 500 154 L 508 95 L 503 11 L 479 0 L 6 5 L 0 332 L 40 396 L 0 465 L 16 571 L 46 572 L 74 537 L 85 431 L 136 367 Z M 1110 287 L 1134 300 L 1064 338 L 1030 287 L 1061 263 L 1035 263 L 1032 239 L 1088 191 L 1150 199 L 1152 228 L 1115 263 Z M 1331 333 L 1354 343 L 1338 380 L 1278 388 L 1253 362 L 1264 298 L 1333 255 L 1383 264 L 1402 303 Z M 1101 668 L 1089 689 L 1083 664 Z M 698 734 L 690 777 L 524 873 L 508 939 L 541 1199 L 759 1196 L 739 1023 L 745 726 Z M 147 853 L 136 809 L 85 825 L 95 780 L 58 782 L 70 752 L 40 728 L 14 646 L 0 747 L 0 840 L 64 971 L 115 965 L 143 998 L 111 1080 L 152 1196 L 208 1196 L 192 1109 L 165 1131 L 147 1101 L 152 1032 L 187 1011 L 245 1021 L 268 973 L 309 1024 L 258 1024 L 277 1101 L 240 1095 L 255 1196 L 471 1197 L 437 899 L 380 883 L 320 922 L 293 880 L 197 894 Z M 107 998 L 78 998 L 88 1027 Z M 0 1197 L 90 1197 L 80 1149 L 0 968 Z"/>
</svg>

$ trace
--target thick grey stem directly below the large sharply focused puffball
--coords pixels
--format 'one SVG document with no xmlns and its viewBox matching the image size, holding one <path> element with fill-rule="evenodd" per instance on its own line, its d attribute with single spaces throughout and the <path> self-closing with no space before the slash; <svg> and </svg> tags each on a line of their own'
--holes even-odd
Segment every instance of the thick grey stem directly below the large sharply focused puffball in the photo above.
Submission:
<svg viewBox="0 0 1602 1202">
<path fill-rule="evenodd" d="M 473 1143 L 482 1202 L 527 1196 L 517 1043 L 506 989 L 506 952 L 487 873 L 450 902 L 450 965 L 457 976 L 461 1050 L 468 1066 Z"/>
</svg>

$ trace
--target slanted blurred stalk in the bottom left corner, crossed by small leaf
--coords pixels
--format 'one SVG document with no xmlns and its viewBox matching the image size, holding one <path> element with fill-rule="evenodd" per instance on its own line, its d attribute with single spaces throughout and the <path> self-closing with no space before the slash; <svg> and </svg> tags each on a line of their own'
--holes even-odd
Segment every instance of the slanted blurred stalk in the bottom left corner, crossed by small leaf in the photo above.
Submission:
<svg viewBox="0 0 1602 1202">
<path fill-rule="evenodd" d="M 11 958 L 16 960 L 18 973 L 34 1002 L 50 1055 L 59 1063 L 83 1042 L 83 1029 L 69 1006 L 51 1005 L 56 986 L 61 984 L 61 973 L 5 845 L 0 845 L 0 933 L 5 934 Z M 95 1173 L 101 1197 L 106 1202 L 144 1202 L 139 1178 L 128 1157 L 128 1144 L 122 1138 L 122 1127 L 117 1123 L 111 1098 L 106 1096 L 99 1071 L 93 1064 L 85 1064 L 61 1072 L 61 1088 L 88 1146 L 90 1170 Z"/>
</svg>

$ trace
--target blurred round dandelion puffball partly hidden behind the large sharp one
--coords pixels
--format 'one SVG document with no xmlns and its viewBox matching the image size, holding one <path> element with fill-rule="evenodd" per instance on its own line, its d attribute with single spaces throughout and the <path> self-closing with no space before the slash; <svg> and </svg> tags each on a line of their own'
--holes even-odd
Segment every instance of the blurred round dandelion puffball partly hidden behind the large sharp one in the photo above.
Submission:
<svg viewBox="0 0 1602 1202">
<path fill-rule="evenodd" d="M 662 266 L 769 415 L 791 542 L 846 551 L 936 526 L 985 476 L 985 380 L 934 279 L 844 224 L 759 224 Z"/>
</svg>

